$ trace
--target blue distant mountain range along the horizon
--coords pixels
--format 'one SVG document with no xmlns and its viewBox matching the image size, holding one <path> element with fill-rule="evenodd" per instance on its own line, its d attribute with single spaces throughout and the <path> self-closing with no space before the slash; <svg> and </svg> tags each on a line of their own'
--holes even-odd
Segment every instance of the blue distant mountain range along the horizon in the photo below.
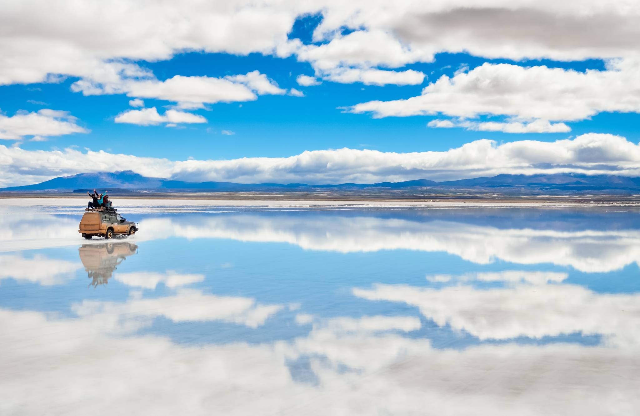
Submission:
<svg viewBox="0 0 640 416">
<path fill-rule="evenodd" d="M 640 192 L 640 177 L 615 175 L 579 175 L 574 173 L 558 175 L 497 175 L 474 179 L 435 182 L 428 179 L 406 180 L 404 182 L 378 182 L 374 184 L 237 184 L 234 182 L 184 182 L 152 178 L 139 175 L 131 170 L 120 172 L 79 173 L 58 177 L 40 184 L 0 188 L 0 191 L 78 191 L 93 188 L 109 189 L 111 193 L 133 193 L 136 191 L 314 191 L 316 189 L 362 190 L 362 189 L 505 189 L 539 191 L 606 191 L 623 193 Z"/>
</svg>

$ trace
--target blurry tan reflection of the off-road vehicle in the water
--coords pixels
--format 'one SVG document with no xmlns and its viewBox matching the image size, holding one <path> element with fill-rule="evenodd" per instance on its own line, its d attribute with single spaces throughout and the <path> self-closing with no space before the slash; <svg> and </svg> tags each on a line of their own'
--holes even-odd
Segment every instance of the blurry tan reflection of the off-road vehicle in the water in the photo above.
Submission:
<svg viewBox="0 0 640 416">
<path fill-rule="evenodd" d="M 90 286 L 106 285 L 113 271 L 130 255 L 138 254 L 133 243 L 83 244 L 78 248 L 84 271 L 92 280 Z"/>
</svg>

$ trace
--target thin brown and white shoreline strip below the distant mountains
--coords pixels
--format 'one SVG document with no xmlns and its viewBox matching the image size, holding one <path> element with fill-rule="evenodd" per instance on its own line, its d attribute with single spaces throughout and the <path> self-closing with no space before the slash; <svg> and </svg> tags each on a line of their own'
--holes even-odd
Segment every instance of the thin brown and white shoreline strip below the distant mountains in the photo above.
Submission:
<svg viewBox="0 0 640 416">
<path fill-rule="evenodd" d="M 640 205 L 640 195 L 429 195 L 426 193 L 356 193 L 356 192 L 203 192 L 136 193 L 113 195 L 112 200 L 256 200 L 256 201 L 335 201 L 335 202 L 483 202 L 496 204 L 602 204 Z M 86 195 L 53 192 L 0 192 L 0 199 L 65 198 L 88 200 Z"/>
</svg>

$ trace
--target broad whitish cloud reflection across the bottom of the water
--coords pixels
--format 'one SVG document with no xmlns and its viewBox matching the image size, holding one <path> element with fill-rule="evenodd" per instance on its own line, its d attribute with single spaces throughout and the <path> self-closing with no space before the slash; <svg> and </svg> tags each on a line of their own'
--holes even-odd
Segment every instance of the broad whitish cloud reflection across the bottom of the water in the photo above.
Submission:
<svg viewBox="0 0 640 416">
<path fill-rule="evenodd" d="M 269 408 L 312 416 L 425 409 L 455 416 L 534 416 L 633 414 L 640 406 L 632 382 L 640 368 L 637 348 L 509 343 L 453 350 L 403 333 L 332 328 L 314 329 L 292 342 L 193 346 L 123 333 L 110 328 L 107 317 L 0 310 L 0 365 L 12 375 L 0 378 L 3 413 L 42 415 L 56 408 L 70 416 L 164 416 L 195 403 L 189 413 L 207 415 L 211 403 L 228 415 Z M 298 358 L 307 358 L 317 383 L 294 380 L 287 363 Z M 74 392 L 72 400 L 64 392 Z"/>
</svg>

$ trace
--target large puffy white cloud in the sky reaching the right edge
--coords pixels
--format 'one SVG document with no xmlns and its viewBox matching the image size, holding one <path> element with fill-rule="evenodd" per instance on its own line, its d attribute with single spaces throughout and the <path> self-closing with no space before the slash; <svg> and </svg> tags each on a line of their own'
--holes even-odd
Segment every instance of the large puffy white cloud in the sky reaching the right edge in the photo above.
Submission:
<svg viewBox="0 0 640 416">
<path fill-rule="evenodd" d="M 365 102 L 356 104 L 350 111 L 371 112 L 376 117 L 504 115 L 540 120 L 538 125 L 472 125 L 485 131 L 566 131 L 566 125 L 550 125 L 547 120 L 584 120 L 602 111 L 640 112 L 640 93 L 636 86 L 640 87 L 636 66 L 629 62 L 612 64 L 609 70 L 586 72 L 484 63 L 452 78 L 440 77 L 417 97 Z"/>
</svg>

